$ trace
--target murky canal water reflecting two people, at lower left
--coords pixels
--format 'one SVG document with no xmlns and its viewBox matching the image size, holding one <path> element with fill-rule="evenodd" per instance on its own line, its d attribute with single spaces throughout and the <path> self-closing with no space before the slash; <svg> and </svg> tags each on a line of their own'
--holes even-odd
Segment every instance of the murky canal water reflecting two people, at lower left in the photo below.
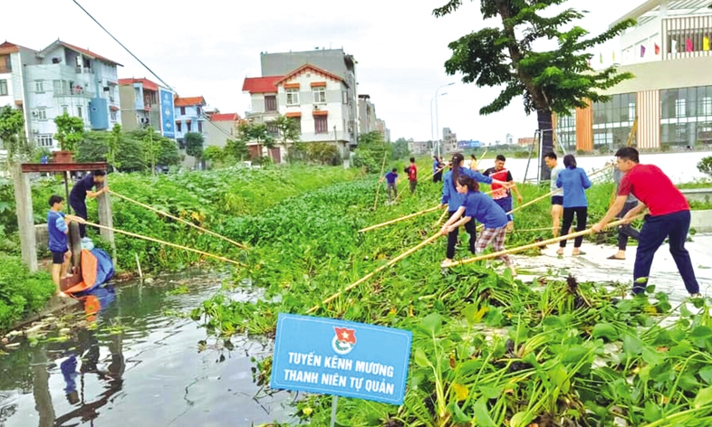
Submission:
<svg viewBox="0 0 712 427">
<path fill-rule="evenodd" d="M 228 350 L 196 322 L 169 314 L 197 307 L 216 293 L 220 281 L 188 273 L 110 288 L 92 302 L 101 312 L 87 315 L 80 309 L 66 322 L 72 329 L 64 330 L 68 340 L 47 342 L 56 331 L 45 339 L 14 338 L 21 346 L 0 356 L 0 426 L 293 421 L 288 415 L 293 395 L 265 396 L 252 378 L 250 357 L 270 354 L 269 340 L 234 337 Z M 182 284 L 188 285 L 187 294 L 169 293 Z M 198 351 L 198 342 L 206 339 L 207 348 Z"/>
</svg>

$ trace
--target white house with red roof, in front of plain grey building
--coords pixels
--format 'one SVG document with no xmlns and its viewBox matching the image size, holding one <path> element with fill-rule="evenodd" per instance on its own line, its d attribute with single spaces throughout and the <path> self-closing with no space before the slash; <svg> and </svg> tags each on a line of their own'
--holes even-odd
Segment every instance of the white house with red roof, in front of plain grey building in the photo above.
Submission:
<svg viewBox="0 0 712 427">
<path fill-rule="evenodd" d="M 252 111 L 246 119 L 272 128 L 270 122 L 283 115 L 298 122 L 303 142 L 334 143 L 342 154 L 348 152 L 353 135 L 351 105 L 348 86 L 341 76 L 305 64 L 284 76 L 246 78 L 243 90 L 252 100 Z M 251 146 L 259 149 L 256 143 Z M 284 147 L 274 150 L 271 155 L 276 161 L 286 155 Z"/>
</svg>

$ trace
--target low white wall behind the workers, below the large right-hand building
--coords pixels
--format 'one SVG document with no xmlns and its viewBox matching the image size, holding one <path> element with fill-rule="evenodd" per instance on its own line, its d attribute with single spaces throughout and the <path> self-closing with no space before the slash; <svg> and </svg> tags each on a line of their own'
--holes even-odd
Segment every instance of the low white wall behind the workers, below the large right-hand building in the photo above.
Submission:
<svg viewBox="0 0 712 427">
<path fill-rule="evenodd" d="M 494 157 L 496 151 L 490 151 L 485 160 L 479 167 L 482 169 L 495 165 Z M 656 153 L 656 154 L 641 154 L 640 163 L 659 166 L 675 184 L 683 184 L 693 182 L 705 177 L 705 174 L 698 170 L 698 163 L 703 157 L 712 156 L 712 152 L 707 151 L 683 151 L 672 153 Z M 561 161 L 560 157 L 560 161 Z M 597 157 L 576 157 L 578 166 L 585 169 L 587 172 L 601 169 L 606 162 L 610 162 L 613 156 L 597 156 Z M 534 179 L 537 174 L 537 164 L 535 157 L 529 164 L 529 169 L 526 168 L 527 159 L 525 158 L 507 158 L 506 167 L 512 171 L 515 181 L 521 182 L 526 174 L 527 181 Z M 563 164 L 562 164 L 563 165 Z"/>
</svg>

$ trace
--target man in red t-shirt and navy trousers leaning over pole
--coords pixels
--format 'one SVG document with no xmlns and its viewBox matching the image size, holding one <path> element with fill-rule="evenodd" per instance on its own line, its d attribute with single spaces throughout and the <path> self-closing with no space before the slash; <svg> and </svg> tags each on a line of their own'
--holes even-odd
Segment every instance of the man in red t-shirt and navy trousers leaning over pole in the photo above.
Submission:
<svg viewBox="0 0 712 427">
<path fill-rule="evenodd" d="M 625 176 L 621 180 L 615 203 L 603 219 L 593 225 L 593 232 L 600 232 L 621 212 L 630 194 L 636 196 L 638 205 L 631 209 L 623 220 L 630 222 L 630 218 L 640 214 L 646 207 L 650 213 L 645 215 L 645 223 L 640 230 L 633 267 L 633 293 L 645 291 L 655 251 L 658 251 L 667 238 L 670 254 L 678 265 L 685 288 L 693 298 L 700 297 L 695 270 L 692 270 L 692 261 L 689 259 L 688 250 L 685 249 L 690 220 L 688 200 L 658 166 L 640 165 L 638 150 L 635 148 L 621 148 L 616 152 L 616 157 L 618 168 Z"/>
</svg>

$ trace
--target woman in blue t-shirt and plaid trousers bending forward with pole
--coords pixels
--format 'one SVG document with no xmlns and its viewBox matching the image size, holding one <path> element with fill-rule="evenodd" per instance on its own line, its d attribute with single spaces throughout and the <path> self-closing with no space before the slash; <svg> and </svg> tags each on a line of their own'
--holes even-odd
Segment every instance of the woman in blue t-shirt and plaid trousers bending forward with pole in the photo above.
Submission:
<svg viewBox="0 0 712 427">
<path fill-rule="evenodd" d="M 457 193 L 465 195 L 465 200 L 457 212 L 443 225 L 440 232 L 442 234 L 452 232 L 462 224 L 473 223 L 474 218 L 485 225 L 485 230 L 480 233 L 475 243 L 476 255 L 484 252 L 489 244 L 492 244 L 492 249 L 495 251 L 505 251 L 506 226 L 509 218 L 502 206 L 496 204 L 492 197 L 480 193 L 477 181 L 467 175 L 458 176 Z M 509 255 L 503 254 L 498 258 L 504 261 L 507 268 L 512 271 L 512 275 L 516 276 L 515 265 Z"/>
</svg>

